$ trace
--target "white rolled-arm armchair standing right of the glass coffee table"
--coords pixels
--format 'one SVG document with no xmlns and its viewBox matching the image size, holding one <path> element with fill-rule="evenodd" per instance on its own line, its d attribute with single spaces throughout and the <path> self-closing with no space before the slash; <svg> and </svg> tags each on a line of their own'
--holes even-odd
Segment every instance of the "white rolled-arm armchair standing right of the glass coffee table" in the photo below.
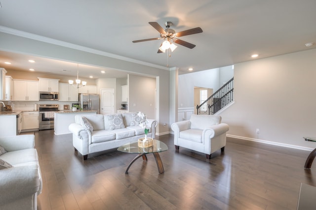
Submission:
<svg viewBox="0 0 316 210">
<path fill-rule="evenodd" d="M 190 120 L 179 121 L 171 124 L 174 131 L 174 145 L 199 151 L 210 159 L 211 154 L 226 146 L 226 132 L 228 124 L 221 123 L 221 116 L 192 115 Z"/>
</svg>

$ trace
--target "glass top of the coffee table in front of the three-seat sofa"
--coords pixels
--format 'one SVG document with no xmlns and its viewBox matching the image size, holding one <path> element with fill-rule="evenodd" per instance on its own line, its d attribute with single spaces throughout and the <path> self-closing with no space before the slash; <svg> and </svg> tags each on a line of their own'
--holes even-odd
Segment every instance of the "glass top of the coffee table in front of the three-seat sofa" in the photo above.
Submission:
<svg viewBox="0 0 316 210">
<path fill-rule="evenodd" d="M 118 148 L 126 153 L 154 153 L 168 150 L 168 146 L 159 140 L 153 139 L 153 146 L 148 148 L 138 147 L 138 141 L 128 142 Z"/>
</svg>

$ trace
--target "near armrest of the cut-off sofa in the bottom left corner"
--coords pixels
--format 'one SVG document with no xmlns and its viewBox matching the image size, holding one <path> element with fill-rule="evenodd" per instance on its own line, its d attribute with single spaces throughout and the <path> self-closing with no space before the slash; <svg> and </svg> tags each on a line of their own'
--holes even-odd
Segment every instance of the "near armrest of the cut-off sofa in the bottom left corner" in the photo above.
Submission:
<svg viewBox="0 0 316 210">
<path fill-rule="evenodd" d="M 2 169 L 0 170 L 0 176 L 0 204 L 33 195 L 40 189 L 40 177 L 37 165 Z"/>
</svg>

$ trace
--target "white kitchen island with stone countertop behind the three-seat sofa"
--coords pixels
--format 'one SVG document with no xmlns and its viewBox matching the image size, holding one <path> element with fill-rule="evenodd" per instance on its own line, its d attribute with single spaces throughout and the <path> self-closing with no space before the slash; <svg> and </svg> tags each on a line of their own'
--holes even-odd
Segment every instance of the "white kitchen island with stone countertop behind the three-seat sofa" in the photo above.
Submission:
<svg viewBox="0 0 316 210">
<path fill-rule="evenodd" d="M 61 135 L 71 133 L 68 130 L 68 126 L 71 123 L 75 123 L 76 115 L 95 115 L 97 111 L 95 110 L 83 110 L 83 111 L 71 111 L 64 110 L 54 113 L 54 134 Z"/>
</svg>

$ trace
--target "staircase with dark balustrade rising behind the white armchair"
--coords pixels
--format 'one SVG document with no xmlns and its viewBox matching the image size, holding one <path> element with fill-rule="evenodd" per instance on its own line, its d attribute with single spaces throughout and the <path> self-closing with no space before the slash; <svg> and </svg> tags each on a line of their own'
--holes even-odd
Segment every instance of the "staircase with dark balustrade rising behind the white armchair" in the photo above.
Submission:
<svg viewBox="0 0 316 210">
<path fill-rule="evenodd" d="M 234 77 L 206 99 L 197 105 L 197 115 L 214 115 L 234 100 Z"/>
</svg>

